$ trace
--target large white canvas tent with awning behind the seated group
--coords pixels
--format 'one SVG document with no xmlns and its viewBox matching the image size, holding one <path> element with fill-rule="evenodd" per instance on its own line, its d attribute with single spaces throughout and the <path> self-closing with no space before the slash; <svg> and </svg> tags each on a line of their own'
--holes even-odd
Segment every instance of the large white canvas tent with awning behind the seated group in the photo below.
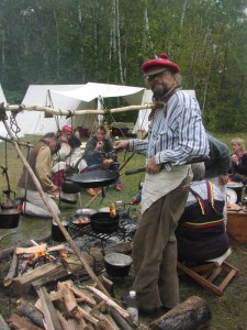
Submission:
<svg viewBox="0 0 247 330">
<path fill-rule="evenodd" d="M 101 109 L 100 99 L 122 97 L 128 105 L 141 105 L 144 88 L 121 85 L 31 85 L 23 98 L 24 106 L 50 107 L 60 110 Z M 64 124 L 90 128 L 94 116 L 45 118 L 43 111 L 23 111 L 16 117 L 22 134 L 43 135 Z M 58 127 L 57 127 L 58 124 Z"/>
</svg>

